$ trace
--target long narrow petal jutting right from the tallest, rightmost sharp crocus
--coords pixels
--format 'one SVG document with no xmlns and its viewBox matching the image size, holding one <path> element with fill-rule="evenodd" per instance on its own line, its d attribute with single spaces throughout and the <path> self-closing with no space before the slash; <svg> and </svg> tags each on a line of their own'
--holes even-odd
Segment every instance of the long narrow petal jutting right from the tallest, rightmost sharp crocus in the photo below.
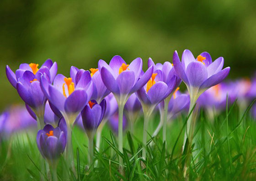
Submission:
<svg viewBox="0 0 256 181">
<path fill-rule="evenodd" d="M 230 67 L 224 68 L 222 71 L 212 75 L 203 82 L 199 89 L 207 89 L 222 82 L 229 75 Z"/>
</svg>

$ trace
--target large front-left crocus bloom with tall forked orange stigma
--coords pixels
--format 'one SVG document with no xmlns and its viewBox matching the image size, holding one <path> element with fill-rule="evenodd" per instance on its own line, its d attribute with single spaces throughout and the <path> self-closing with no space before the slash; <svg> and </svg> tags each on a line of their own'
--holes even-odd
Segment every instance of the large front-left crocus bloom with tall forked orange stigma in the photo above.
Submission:
<svg viewBox="0 0 256 181">
<path fill-rule="evenodd" d="M 51 85 L 42 76 L 41 87 L 50 105 L 53 104 L 65 119 L 69 119 L 69 124 L 73 124 L 79 112 L 90 100 L 93 86 L 89 71 L 80 69 L 70 77 L 66 78 L 64 75 L 58 74 Z"/>
</svg>

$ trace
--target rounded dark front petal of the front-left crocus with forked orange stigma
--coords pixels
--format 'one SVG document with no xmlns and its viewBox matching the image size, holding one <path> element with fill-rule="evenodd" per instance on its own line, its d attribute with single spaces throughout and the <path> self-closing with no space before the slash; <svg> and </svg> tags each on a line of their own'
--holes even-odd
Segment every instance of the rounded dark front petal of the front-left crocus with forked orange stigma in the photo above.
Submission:
<svg viewBox="0 0 256 181">
<path fill-rule="evenodd" d="M 83 89 L 77 89 L 69 95 L 65 101 L 64 109 L 67 113 L 80 112 L 85 104 L 88 103 L 86 91 Z"/>
</svg>

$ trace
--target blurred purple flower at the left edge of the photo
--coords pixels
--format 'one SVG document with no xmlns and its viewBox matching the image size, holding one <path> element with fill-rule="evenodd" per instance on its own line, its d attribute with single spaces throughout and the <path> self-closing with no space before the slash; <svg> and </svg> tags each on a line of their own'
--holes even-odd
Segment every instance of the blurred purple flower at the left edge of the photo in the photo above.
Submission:
<svg viewBox="0 0 256 181">
<path fill-rule="evenodd" d="M 2 138 L 8 138 L 17 131 L 36 127 L 37 122 L 22 106 L 13 106 L 0 115 L 0 137 Z"/>
</svg>

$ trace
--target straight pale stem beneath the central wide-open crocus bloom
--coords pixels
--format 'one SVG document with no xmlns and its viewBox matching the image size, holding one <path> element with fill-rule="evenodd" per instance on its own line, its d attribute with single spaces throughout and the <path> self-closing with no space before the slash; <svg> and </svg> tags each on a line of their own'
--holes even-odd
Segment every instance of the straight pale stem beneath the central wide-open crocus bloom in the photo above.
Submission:
<svg viewBox="0 0 256 181">
<path fill-rule="evenodd" d="M 124 104 L 118 105 L 118 150 L 123 153 L 123 109 Z M 119 163 L 123 165 L 123 159 L 119 157 Z"/>
</svg>

